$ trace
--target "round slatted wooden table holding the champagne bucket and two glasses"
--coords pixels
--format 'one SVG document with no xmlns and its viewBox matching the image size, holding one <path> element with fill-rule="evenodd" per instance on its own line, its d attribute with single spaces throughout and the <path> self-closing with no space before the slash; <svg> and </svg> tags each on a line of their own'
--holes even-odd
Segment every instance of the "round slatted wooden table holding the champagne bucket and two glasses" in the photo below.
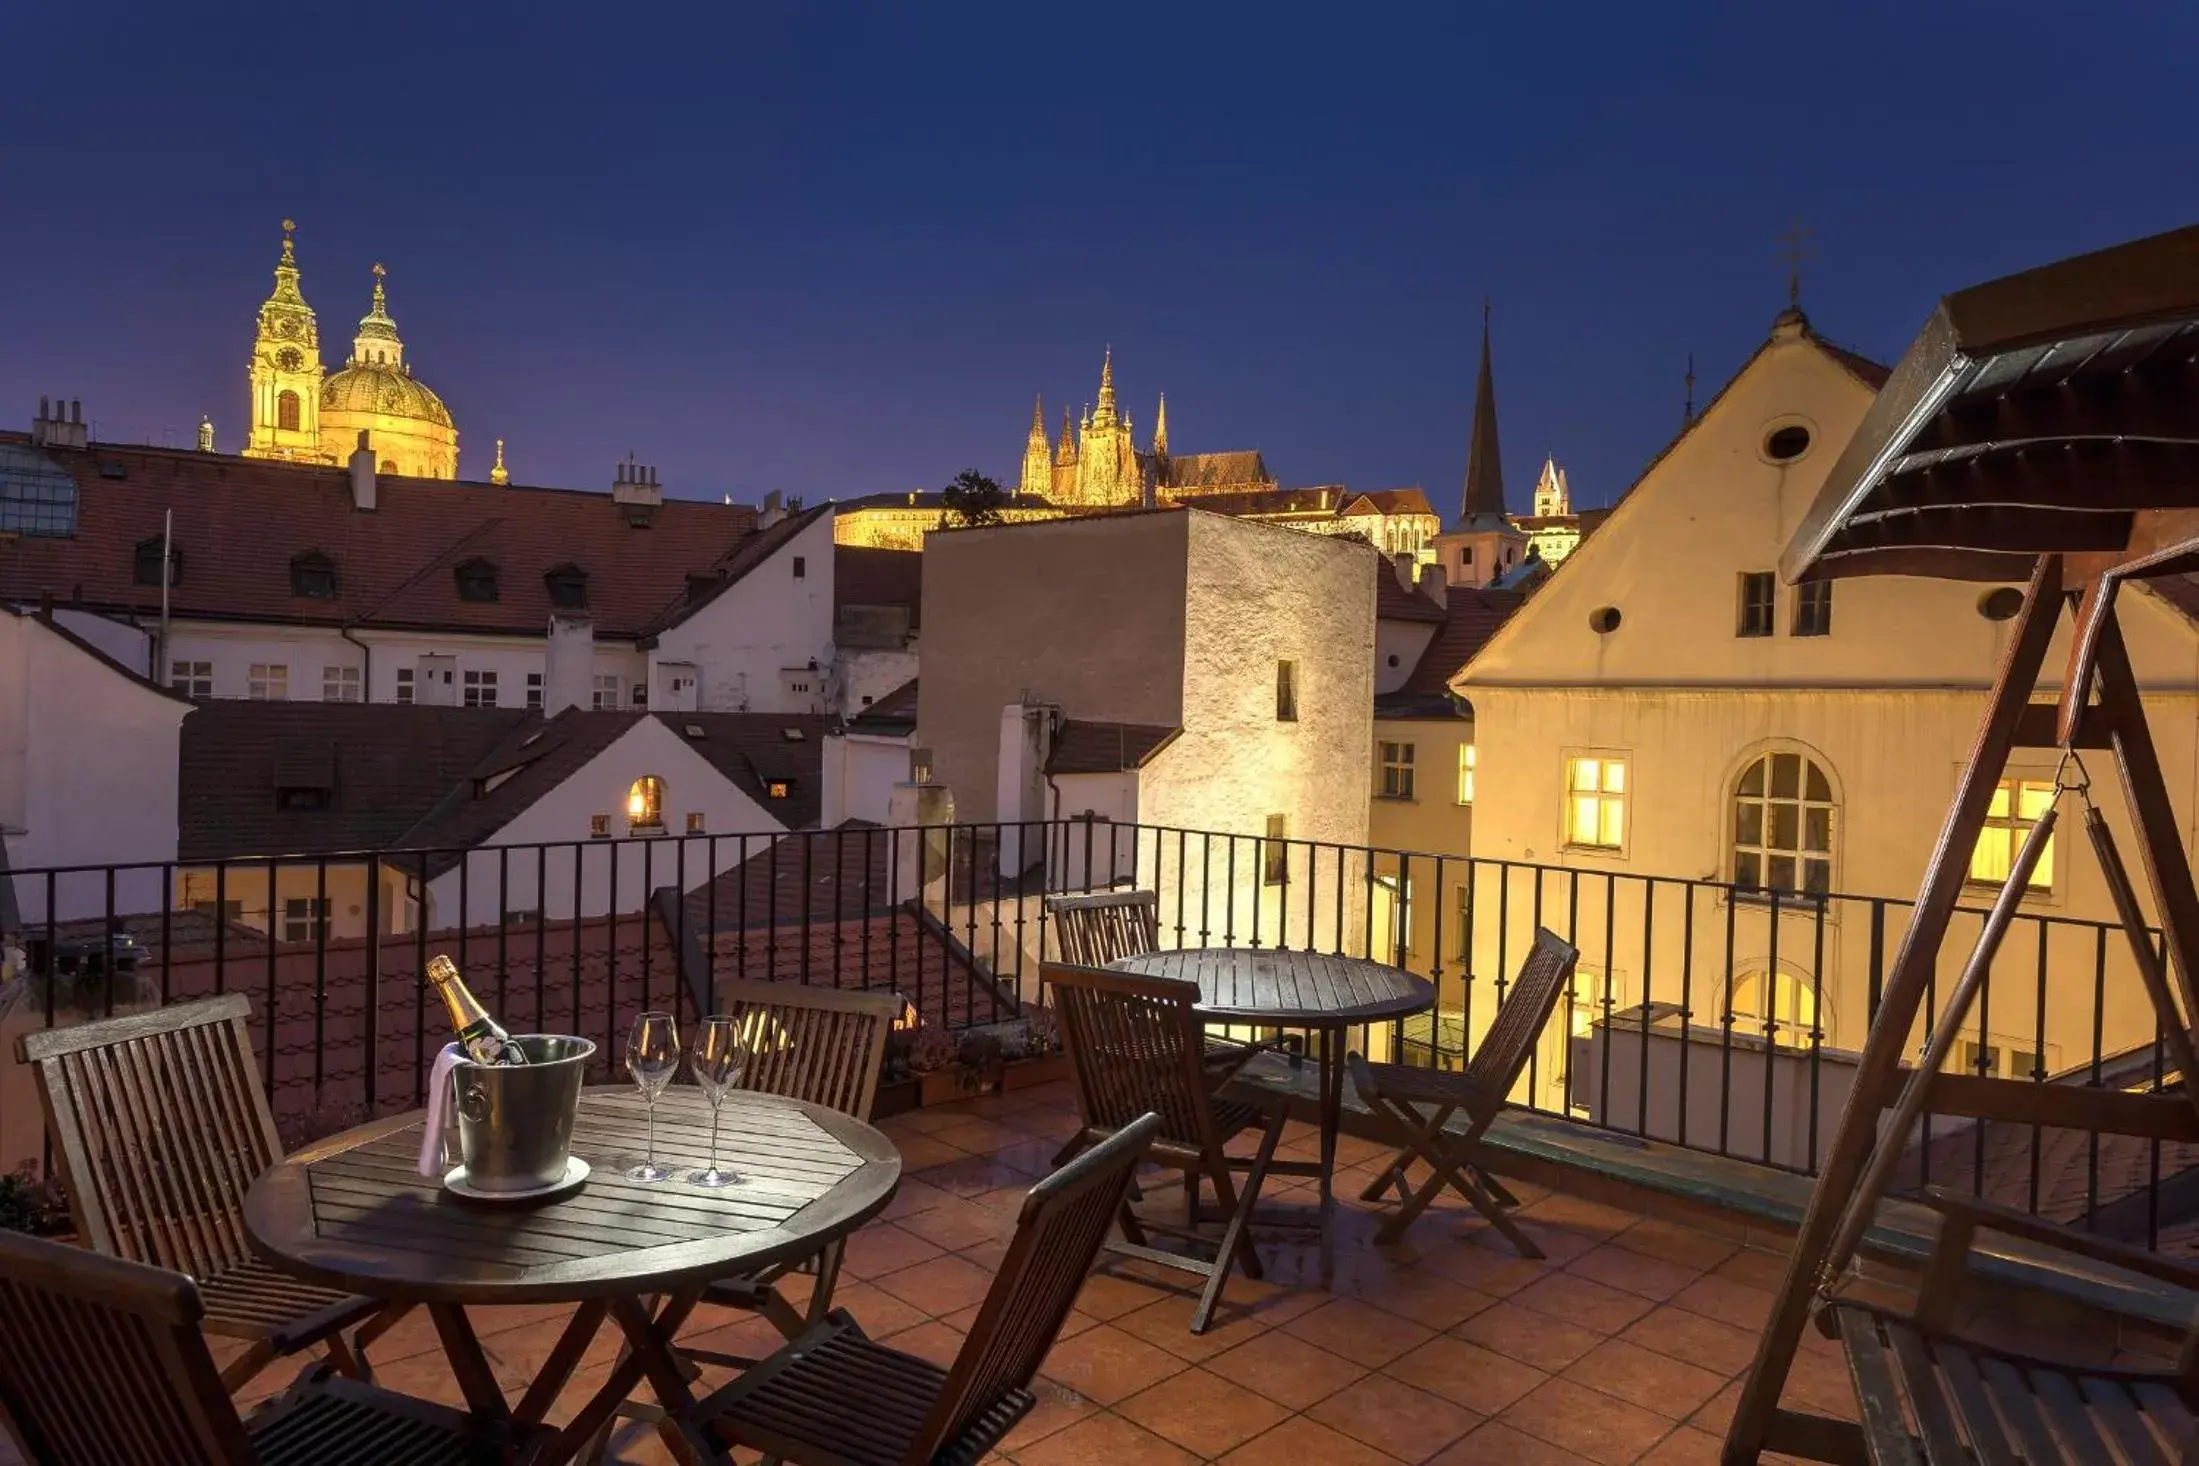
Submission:
<svg viewBox="0 0 2199 1466">
<path fill-rule="evenodd" d="M 741 1185 L 688 1185 L 684 1176 L 701 1169 L 710 1147 L 710 1106 L 693 1088 L 671 1088 L 658 1101 L 658 1160 L 673 1180 L 627 1180 L 647 1143 L 642 1097 L 605 1086 L 581 1095 L 572 1150 L 592 1174 L 578 1191 L 475 1202 L 420 1176 L 422 1123 L 416 1110 L 290 1154 L 253 1182 L 244 1229 L 284 1273 L 424 1303 L 466 1407 L 539 1440 L 530 1462 L 576 1459 L 644 1378 L 686 1453 L 730 1459 L 695 1424 L 695 1391 L 673 1345 L 704 1286 L 814 1255 L 877 1215 L 902 1180 L 899 1152 L 871 1125 L 822 1106 L 732 1092 L 719 1119 L 719 1163 Z M 576 1303 L 517 1407 L 466 1321 L 477 1303 Z M 552 1437 L 541 1420 L 605 1319 L 625 1334 L 627 1354 Z"/>
</svg>

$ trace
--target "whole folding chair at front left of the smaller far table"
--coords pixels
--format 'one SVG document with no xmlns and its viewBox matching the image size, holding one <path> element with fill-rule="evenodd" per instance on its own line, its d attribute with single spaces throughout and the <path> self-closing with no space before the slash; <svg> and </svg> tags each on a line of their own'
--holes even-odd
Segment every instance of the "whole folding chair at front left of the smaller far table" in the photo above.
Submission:
<svg viewBox="0 0 2199 1466">
<path fill-rule="evenodd" d="M 1108 1246 L 1128 1257 L 1205 1277 L 1207 1286 L 1198 1308 L 1192 1310 L 1192 1332 L 1203 1334 L 1229 1268 L 1242 1266 L 1245 1277 L 1260 1277 L 1260 1255 L 1253 1251 L 1249 1222 L 1267 1167 L 1275 1160 L 1289 1106 L 1278 1103 L 1267 1114 L 1260 1150 L 1251 1160 L 1231 1160 L 1223 1147 L 1231 1136 L 1260 1123 L 1260 1106 L 1218 1097 L 1225 1077 L 1201 1062 L 1196 982 L 1058 965 L 1047 965 L 1042 976 L 1053 989 L 1062 1040 L 1075 1064 L 1078 1103 L 1084 1110 L 1084 1128 L 1069 1141 L 1064 1154 L 1104 1141 L 1141 1114 L 1159 1114 L 1161 1128 L 1148 1160 L 1183 1171 L 1187 1226 L 1141 1220 L 1126 1202 L 1124 1240 Z M 1231 1169 L 1245 1171 L 1242 1189 L 1231 1180 Z M 1201 1176 L 1214 1182 L 1225 1218 L 1214 1262 L 1168 1253 L 1146 1240 L 1146 1233 L 1154 1231 L 1203 1242 L 1196 1231 Z"/>
</svg>

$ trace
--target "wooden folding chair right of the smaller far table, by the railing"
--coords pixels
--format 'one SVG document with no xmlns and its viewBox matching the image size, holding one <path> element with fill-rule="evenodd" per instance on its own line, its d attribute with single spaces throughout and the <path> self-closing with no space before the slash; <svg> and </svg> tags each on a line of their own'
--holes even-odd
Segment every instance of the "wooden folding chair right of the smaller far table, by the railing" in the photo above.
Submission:
<svg viewBox="0 0 2199 1466">
<path fill-rule="evenodd" d="M 1504 1097 L 1520 1084 L 1520 1075 L 1535 1053 L 1535 1040 L 1541 1037 L 1550 1013 L 1557 1011 L 1557 1000 L 1572 985 L 1572 969 L 1579 960 L 1581 954 L 1572 943 L 1537 928 L 1535 945 L 1465 1073 L 1412 1064 L 1368 1064 L 1357 1053 L 1346 1057 L 1352 1084 L 1383 1132 L 1379 1139 L 1399 1147 L 1381 1176 L 1359 1193 L 1359 1200 L 1372 1202 L 1396 1187 L 1405 1198 L 1396 1215 L 1377 1233 L 1377 1242 L 1396 1242 L 1405 1235 L 1412 1220 L 1427 1211 L 1427 1204 L 1449 1185 L 1489 1218 L 1489 1224 L 1504 1233 L 1504 1240 L 1520 1248 L 1522 1257 L 1541 1257 L 1541 1248 L 1506 1215 L 1506 1209 L 1517 1207 L 1520 1200 L 1489 1174 L 1482 1136 L 1504 1110 Z M 1445 1123 L 1460 1110 L 1467 1112 L 1465 1134 L 1447 1134 Z M 1407 1185 L 1407 1167 L 1414 1160 L 1425 1160 L 1432 1169 L 1418 1191 Z"/>
</svg>

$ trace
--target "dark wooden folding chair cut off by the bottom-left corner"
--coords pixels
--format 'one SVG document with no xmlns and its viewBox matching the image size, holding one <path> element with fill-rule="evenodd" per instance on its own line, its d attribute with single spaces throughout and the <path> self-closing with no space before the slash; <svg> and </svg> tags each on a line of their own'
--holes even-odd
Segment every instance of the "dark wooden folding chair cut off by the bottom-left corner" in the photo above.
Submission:
<svg viewBox="0 0 2199 1466">
<path fill-rule="evenodd" d="M 180 1273 L 0 1231 L 0 1431 L 37 1466 L 490 1466 L 528 1444 L 308 1369 L 237 1418 Z"/>
</svg>

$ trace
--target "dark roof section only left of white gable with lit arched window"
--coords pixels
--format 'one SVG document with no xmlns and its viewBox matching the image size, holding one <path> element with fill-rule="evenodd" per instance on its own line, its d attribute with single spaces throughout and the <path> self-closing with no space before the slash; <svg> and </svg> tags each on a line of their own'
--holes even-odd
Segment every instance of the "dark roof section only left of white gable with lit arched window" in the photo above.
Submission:
<svg viewBox="0 0 2199 1466">
<path fill-rule="evenodd" d="M 183 719 L 176 857 L 330 855 L 405 844 L 519 708 L 209 701 Z M 277 809 L 277 778 L 332 771 L 328 809 Z"/>
</svg>

